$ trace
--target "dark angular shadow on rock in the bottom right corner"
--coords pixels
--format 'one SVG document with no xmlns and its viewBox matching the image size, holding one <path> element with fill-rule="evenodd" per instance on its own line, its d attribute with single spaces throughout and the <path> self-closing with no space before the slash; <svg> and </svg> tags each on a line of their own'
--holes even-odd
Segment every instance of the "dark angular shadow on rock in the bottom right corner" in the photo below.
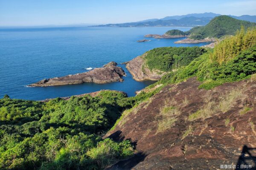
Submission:
<svg viewBox="0 0 256 170">
<path fill-rule="evenodd" d="M 256 151 L 256 148 L 244 145 L 236 164 L 236 170 L 256 170 L 256 152 L 254 151 Z"/>
</svg>

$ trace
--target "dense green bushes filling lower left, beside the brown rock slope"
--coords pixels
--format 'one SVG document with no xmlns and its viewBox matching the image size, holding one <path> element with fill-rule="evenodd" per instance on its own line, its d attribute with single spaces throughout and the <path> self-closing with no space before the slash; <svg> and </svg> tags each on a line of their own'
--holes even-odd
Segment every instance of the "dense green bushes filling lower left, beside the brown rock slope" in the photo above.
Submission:
<svg viewBox="0 0 256 170">
<path fill-rule="evenodd" d="M 102 169 L 133 155 L 131 142 L 102 140 L 126 106 L 125 94 L 56 98 L 49 102 L 0 99 L 0 169 Z"/>
</svg>

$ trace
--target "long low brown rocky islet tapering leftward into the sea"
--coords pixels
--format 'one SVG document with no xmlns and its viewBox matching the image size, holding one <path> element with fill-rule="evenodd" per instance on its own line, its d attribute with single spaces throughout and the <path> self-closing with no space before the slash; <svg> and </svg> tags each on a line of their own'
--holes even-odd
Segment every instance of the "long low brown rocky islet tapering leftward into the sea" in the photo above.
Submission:
<svg viewBox="0 0 256 170">
<path fill-rule="evenodd" d="M 91 71 L 67 75 L 64 77 L 55 77 L 49 79 L 43 79 L 39 82 L 28 85 L 29 87 L 46 87 L 56 85 L 73 85 L 81 84 L 84 82 L 93 82 L 97 84 L 109 83 L 109 82 L 122 82 L 123 76 L 126 76 L 125 71 L 116 66 L 116 62 L 109 62 L 102 68 L 95 68 Z"/>
</svg>

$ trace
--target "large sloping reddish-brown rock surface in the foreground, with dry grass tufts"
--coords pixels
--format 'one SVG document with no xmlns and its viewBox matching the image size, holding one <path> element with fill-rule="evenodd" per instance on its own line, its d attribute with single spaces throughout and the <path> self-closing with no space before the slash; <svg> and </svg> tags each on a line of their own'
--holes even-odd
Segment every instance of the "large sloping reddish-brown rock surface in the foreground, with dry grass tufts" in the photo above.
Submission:
<svg viewBox="0 0 256 170">
<path fill-rule="evenodd" d="M 124 116 L 105 137 L 131 139 L 138 153 L 108 170 L 218 170 L 222 164 L 240 168 L 243 161 L 256 169 L 256 81 L 226 83 L 209 91 L 198 89 L 200 84 L 194 77 L 168 85 Z M 233 89 L 241 96 L 227 111 L 217 109 L 204 119 L 188 120 L 209 102 L 215 102 L 217 108 Z M 157 132 L 157 121 L 166 105 L 180 114 L 172 127 Z M 250 110 L 241 115 L 245 105 Z M 186 136 L 189 127 L 192 130 Z"/>
</svg>

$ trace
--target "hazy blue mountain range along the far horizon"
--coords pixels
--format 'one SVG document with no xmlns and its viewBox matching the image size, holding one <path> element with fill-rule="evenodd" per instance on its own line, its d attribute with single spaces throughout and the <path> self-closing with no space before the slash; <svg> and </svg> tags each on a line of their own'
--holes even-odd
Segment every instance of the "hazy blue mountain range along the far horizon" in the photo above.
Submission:
<svg viewBox="0 0 256 170">
<path fill-rule="evenodd" d="M 147 26 L 183 26 L 183 27 L 195 27 L 195 26 L 205 26 L 207 25 L 212 18 L 218 17 L 221 14 L 215 14 L 212 12 L 206 12 L 202 14 L 186 14 L 186 15 L 175 15 L 170 17 L 164 17 L 161 19 L 148 19 L 133 23 L 121 23 L 121 24 L 106 24 L 98 25 L 100 27 L 147 27 Z M 245 20 L 256 23 L 256 16 L 253 15 L 242 15 L 242 16 L 233 16 L 230 17 L 236 18 L 238 20 Z"/>
</svg>

